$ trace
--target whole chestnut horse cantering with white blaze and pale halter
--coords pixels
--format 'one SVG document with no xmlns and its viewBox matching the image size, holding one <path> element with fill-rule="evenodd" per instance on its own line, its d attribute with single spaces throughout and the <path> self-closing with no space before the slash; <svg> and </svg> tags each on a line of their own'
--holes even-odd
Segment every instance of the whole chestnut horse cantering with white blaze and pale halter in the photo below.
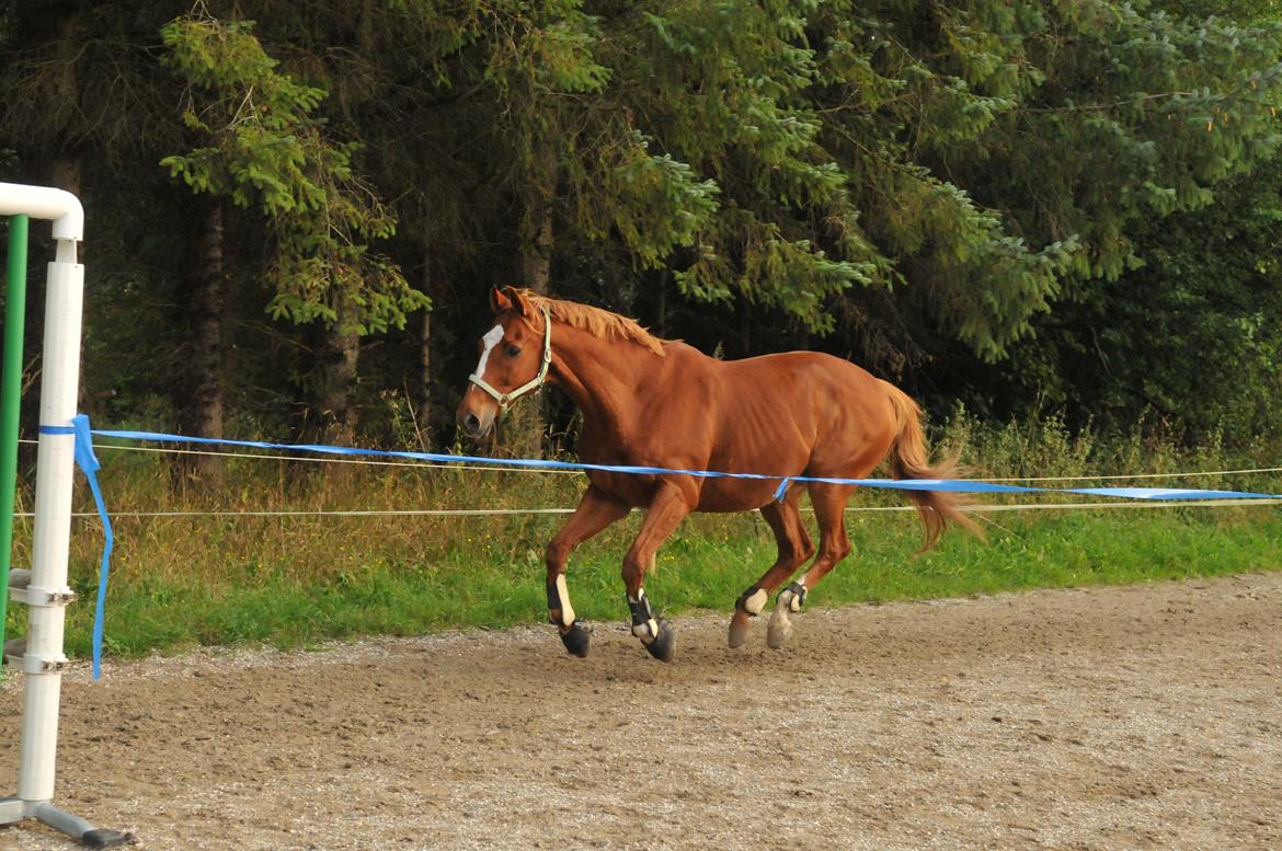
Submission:
<svg viewBox="0 0 1282 851">
<path fill-rule="evenodd" d="M 486 434 L 518 397 L 544 383 L 565 391 L 583 413 L 579 458 L 590 464 L 673 470 L 759 473 L 777 478 L 718 478 L 679 473 L 588 470 L 590 484 L 565 527 L 547 545 L 547 610 L 562 642 L 586 656 L 588 629 L 574 618 L 565 561 L 587 538 L 633 508 L 647 509 L 623 559 L 632 632 L 656 659 L 669 661 L 673 629 L 655 619 L 642 588 L 647 566 L 691 511 L 758 509 L 774 531 L 779 554 L 735 602 L 729 646 L 747 636 L 751 618 L 815 547 L 797 505 L 809 491 L 819 527 L 810 569 L 776 599 L 767 641 L 782 647 L 790 613 L 850 554 L 846 501 L 851 484 L 792 482 L 788 477 L 863 478 L 887 456 L 895 478 L 949 478 L 951 461 L 931 467 L 920 409 L 903 391 L 854 364 L 812 351 L 722 361 L 635 320 L 572 301 L 505 287 L 491 293 L 495 326 L 481 338 L 481 359 L 459 404 L 458 423 Z M 946 520 L 972 531 L 958 501 L 937 491 L 908 491 L 931 547 Z"/>
</svg>

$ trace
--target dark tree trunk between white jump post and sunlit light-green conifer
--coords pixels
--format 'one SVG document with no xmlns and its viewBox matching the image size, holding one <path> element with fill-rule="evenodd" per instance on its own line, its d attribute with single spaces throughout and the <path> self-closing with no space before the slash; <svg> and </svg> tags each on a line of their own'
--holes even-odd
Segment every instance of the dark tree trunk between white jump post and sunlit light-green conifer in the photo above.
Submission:
<svg viewBox="0 0 1282 851">
<path fill-rule="evenodd" d="M 183 381 L 177 387 L 178 428 L 197 437 L 223 437 L 223 295 L 226 258 L 223 205 L 199 199 L 192 235 L 196 246 L 186 276 L 187 343 L 179 350 L 185 364 Z M 183 465 L 187 477 L 218 487 L 223 483 L 223 461 L 213 455 L 192 455 Z"/>
</svg>

